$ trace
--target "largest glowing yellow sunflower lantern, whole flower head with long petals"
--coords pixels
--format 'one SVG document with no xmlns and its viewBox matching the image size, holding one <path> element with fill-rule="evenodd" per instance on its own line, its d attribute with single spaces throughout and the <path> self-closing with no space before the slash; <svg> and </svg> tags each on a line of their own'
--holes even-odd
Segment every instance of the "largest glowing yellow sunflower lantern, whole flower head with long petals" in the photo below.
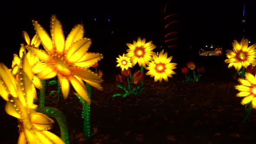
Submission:
<svg viewBox="0 0 256 144">
<path fill-rule="evenodd" d="M 102 78 L 89 70 L 89 67 L 101 60 L 103 56 L 101 53 L 87 52 L 91 46 L 91 39 L 83 37 L 83 25 L 74 26 L 65 40 L 62 24 L 55 15 L 52 15 L 50 22 L 52 38 L 37 21 L 33 20 L 32 23 L 45 49 L 44 51 L 33 46 L 26 46 L 41 60 L 33 67 L 33 72 L 38 74 L 39 79 L 51 79 L 58 76 L 64 98 L 69 95 L 70 82 L 75 91 L 90 103 L 83 81 L 103 90 L 100 85 L 103 82 Z"/>
</svg>

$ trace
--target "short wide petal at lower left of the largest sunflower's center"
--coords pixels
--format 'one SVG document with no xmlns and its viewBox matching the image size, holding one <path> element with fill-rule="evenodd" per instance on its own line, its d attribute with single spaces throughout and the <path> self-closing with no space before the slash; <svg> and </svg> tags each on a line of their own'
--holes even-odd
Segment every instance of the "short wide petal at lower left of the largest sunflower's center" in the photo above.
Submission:
<svg viewBox="0 0 256 144">
<path fill-rule="evenodd" d="M 39 79 L 52 79 L 58 74 L 58 71 L 52 65 L 47 65 L 43 71 L 38 73 Z"/>
</svg>

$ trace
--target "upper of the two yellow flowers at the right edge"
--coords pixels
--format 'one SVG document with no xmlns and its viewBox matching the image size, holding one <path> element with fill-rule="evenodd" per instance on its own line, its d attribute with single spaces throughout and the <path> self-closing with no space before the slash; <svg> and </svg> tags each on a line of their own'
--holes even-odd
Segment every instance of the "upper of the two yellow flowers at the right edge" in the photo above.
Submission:
<svg viewBox="0 0 256 144">
<path fill-rule="evenodd" d="M 228 59 L 224 60 L 229 63 L 228 68 L 233 66 L 239 72 L 242 66 L 247 68 L 251 63 L 256 62 L 256 44 L 248 47 L 248 43 L 248 39 L 242 39 L 240 43 L 234 40 L 232 43 L 234 50 L 227 50 L 226 57 Z"/>
</svg>

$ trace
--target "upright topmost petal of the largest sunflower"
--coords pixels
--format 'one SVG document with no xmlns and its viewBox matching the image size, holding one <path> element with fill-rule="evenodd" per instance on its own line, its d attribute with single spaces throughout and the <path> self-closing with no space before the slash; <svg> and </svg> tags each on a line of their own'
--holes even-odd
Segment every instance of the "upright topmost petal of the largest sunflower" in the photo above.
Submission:
<svg viewBox="0 0 256 144">
<path fill-rule="evenodd" d="M 62 30 L 62 25 L 60 21 L 56 18 L 56 15 L 52 15 L 51 18 L 51 35 L 53 42 L 56 46 L 56 52 L 58 55 L 62 56 L 64 52 L 64 43 L 65 43 L 65 38 Z"/>
</svg>

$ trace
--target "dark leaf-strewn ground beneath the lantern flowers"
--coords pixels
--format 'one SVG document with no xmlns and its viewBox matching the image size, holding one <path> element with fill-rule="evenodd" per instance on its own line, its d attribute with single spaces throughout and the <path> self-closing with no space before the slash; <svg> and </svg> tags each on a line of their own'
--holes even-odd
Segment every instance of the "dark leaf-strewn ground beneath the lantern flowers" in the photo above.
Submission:
<svg viewBox="0 0 256 144">
<path fill-rule="evenodd" d="M 245 106 L 234 88 L 238 83 L 231 74 L 214 73 L 202 75 L 199 82 L 183 82 L 184 75 L 174 75 L 159 83 L 146 76 L 141 95 L 125 98 L 112 97 L 122 92 L 114 77 L 105 80 L 104 91 L 92 88 L 88 139 L 83 138 L 82 105 L 73 90 L 57 102 L 56 93 L 49 96 L 57 87 L 48 87 L 45 106 L 66 116 L 70 144 L 255 144 L 255 111 L 243 122 Z M 6 114 L 4 105 L 1 99 L 0 143 L 16 144 L 17 120 Z M 50 131 L 60 135 L 57 122 Z"/>
</svg>

